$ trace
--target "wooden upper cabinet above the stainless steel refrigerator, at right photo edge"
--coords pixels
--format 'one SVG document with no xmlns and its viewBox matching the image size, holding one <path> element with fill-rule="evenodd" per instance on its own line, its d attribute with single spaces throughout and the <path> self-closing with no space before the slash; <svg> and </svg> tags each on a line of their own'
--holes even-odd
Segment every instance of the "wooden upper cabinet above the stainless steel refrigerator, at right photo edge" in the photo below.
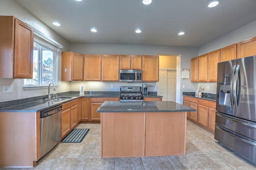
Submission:
<svg viewBox="0 0 256 170">
<path fill-rule="evenodd" d="M 256 37 L 242 41 L 238 45 L 238 58 L 256 55 Z"/>
</svg>

